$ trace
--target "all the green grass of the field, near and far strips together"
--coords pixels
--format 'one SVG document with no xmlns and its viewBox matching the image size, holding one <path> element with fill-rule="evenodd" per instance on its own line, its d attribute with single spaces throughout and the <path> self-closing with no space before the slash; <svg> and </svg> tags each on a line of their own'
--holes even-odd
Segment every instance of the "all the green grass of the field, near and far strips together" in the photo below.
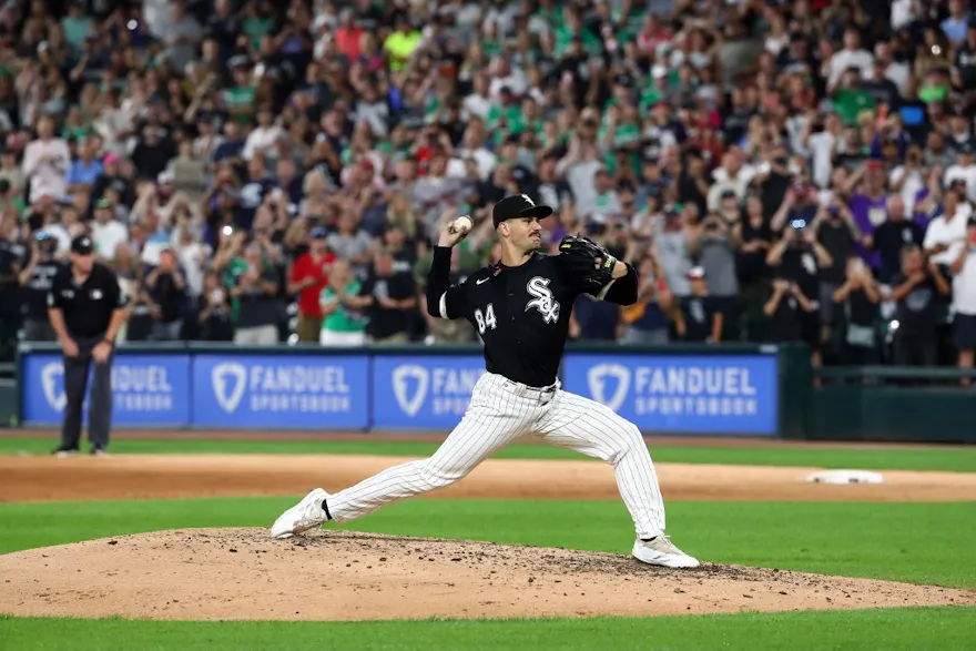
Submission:
<svg viewBox="0 0 976 651">
<path fill-rule="evenodd" d="M 23 446 L 23 447 L 20 447 Z M 49 441 L 0 437 L 0 452 L 45 452 Z M 333 452 L 424 455 L 407 443 L 121 440 L 119 452 Z M 514 446 L 508 456 L 550 448 Z M 976 450 L 680 448 L 659 461 L 974 469 Z M 550 457 L 566 457 L 552 450 Z M 571 456 L 571 455 L 570 455 Z M 870 460 L 876 461 L 868 465 Z M 792 462 L 791 462 L 792 461 Z M 2 486 L 2 478 L 0 478 Z M 186 527 L 266 527 L 289 498 L 0 503 L 0 553 Z M 715 562 L 976 589 L 976 503 L 673 502 L 669 533 Z M 618 501 L 424 500 L 355 522 L 364 531 L 471 538 L 627 552 Z M 2 589 L 2 577 L 0 577 Z M 240 649 L 974 649 L 976 609 L 914 608 L 689 618 L 505 621 L 164 622 L 0 617 L 0 650 Z"/>
</svg>

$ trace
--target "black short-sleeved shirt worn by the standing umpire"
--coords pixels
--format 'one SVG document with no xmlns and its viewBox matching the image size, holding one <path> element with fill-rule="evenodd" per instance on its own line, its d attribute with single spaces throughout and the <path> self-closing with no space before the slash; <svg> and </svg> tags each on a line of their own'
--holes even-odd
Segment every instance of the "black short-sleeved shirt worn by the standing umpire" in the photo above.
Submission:
<svg viewBox="0 0 976 651">
<path fill-rule="evenodd" d="M 92 338 L 105 334 L 112 315 L 124 307 L 124 301 L 115 273 L 94 263 L 81 285 L 75 283 L 71 265 L 62 266 L 54 276 L 48 306 L 61 309 L 64 327 L 72 338 Z"/>
</svg>

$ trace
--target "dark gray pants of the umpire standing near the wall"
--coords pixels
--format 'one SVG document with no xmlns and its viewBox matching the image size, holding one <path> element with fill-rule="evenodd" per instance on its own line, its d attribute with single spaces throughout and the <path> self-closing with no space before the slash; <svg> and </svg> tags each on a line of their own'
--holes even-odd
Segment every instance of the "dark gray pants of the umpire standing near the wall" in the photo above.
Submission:
<svg viewBox="0 0 976 651">
<path fill-rule="evenodd" d="M 81 440 L 81 408 L 88 388 L 89 368 L 92 373 L 92 387 L 88 408 L 88 438 L 95 447 L 109 446 L 109 429 L 112 424 L 112 357 L 104 364 L 95 364 L 91 352 L 98 337 L 79 337 L 78 357 L 64 357 L 64 420 L 61 425 L 61 449 L 78 449 Z"/>
</svg>

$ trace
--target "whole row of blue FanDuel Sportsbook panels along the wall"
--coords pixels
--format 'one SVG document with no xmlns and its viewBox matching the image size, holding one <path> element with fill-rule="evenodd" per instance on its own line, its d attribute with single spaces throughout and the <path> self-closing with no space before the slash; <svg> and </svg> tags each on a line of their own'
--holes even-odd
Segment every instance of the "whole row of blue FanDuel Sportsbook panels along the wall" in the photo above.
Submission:
<svg viewBox="0 0 976 651">
<path fill-rule="evenodd" d="M 578 347 L 566 390 L 609 405 L 642 431 L 780 434 L 775 347 Z M 64 408 L 55 347 L 24 346 L 20 421 L 57 427 Z M 485 373 L 480 347 L 122 345 L 112 382 L 116 427 L 447 430 Z M 87 409 L 87 405 L 85 405 Z"/>
</svg>

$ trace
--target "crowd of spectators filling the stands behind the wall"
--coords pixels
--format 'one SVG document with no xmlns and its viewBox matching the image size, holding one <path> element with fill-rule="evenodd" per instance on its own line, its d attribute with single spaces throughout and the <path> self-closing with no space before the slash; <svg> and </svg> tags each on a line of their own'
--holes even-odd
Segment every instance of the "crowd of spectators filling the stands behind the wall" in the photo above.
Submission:
<svg viewBox="0 0 976 651">
<path fill-rule="evenodd" d="M 972 366 L 974 100 L 963 0 L 8 0 L 0 338 L 89 232 L 130 342 L 475 340 L 430 242 L 527 193 L 641 272 L 575 338 Z"/>
</svg>

